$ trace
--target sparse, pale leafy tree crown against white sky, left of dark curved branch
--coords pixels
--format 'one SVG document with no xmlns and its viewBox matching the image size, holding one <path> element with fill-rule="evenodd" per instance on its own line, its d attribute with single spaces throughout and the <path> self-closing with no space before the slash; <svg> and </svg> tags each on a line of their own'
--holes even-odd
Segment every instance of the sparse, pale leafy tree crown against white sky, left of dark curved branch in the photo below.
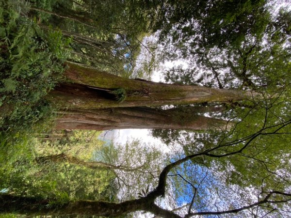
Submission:
<svg viewBox="0 0 291 218">
<path fill-rule="evenodd" d="M 118 190 L 119 200 L 138 198 L 139 192 L 148 192 L 153 188 L 157 176 L 162 171 L 161 152 L 150 144 L 141 140 L 127 140 L 125 144 L 111 142 L 94 153 L 94 159 L 113 166 L 116 179 L 113 189 Z M 147 188 L 145 188 L 147 187 Z"/>
</svg>

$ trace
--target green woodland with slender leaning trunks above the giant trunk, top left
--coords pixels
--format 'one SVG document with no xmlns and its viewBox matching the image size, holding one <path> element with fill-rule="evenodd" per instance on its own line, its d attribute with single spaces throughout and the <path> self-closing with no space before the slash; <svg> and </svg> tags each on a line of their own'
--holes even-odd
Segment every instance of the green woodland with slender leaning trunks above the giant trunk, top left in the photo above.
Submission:
<svg viewBox="0 0 291 218">
<path fill-rule="evenodd" d="M 144 42 L 148 20 L 140 2 L 33 0 L 31 16 L 72 37 L 70 59 L 123 77 L 148 78 L 155 66 L 154 40 Z M 46 3 L 45 3 L 46 2 Z M 147 53 L 148 60 L 140 56 Z"/>
</svg>

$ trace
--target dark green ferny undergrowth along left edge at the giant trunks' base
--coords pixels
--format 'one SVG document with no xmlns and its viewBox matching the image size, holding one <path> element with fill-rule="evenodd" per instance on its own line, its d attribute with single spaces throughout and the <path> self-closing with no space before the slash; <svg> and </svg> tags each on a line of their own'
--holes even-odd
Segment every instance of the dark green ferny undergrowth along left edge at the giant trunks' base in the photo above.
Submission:
<svg viewBox="0 0 291 218">
<path fill-rule="evenodd" d="M 26 16 L 29 3 L 0 0 L 0 131 L 2 138 L 27 131 L 49 117 L 44 97 L 62 79 L 70 39 L 44 31 Z M 14 138 L 14 137 L 13 137 Z"/>
</svg>

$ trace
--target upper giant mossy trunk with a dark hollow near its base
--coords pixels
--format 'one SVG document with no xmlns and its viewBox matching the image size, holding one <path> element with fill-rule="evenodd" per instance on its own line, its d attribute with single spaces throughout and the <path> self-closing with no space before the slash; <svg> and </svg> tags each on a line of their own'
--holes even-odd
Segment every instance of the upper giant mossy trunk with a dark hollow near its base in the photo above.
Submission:
<svg viewBox="0 0 291 218">
<path fill-rule="evenodd" d="M 72 83 L 61 84 L 50 93 L 50 97 L 63 108 L 149 107 L 233 102 L 252 97 L 250 92 L 121 78 L 80 64 L 66 64 L 65 76 Z M 120 88 L 126 91 L 126 98 L 122 102 L 116 101 L 111 94 L 112 90 Z"/>
</svg>

